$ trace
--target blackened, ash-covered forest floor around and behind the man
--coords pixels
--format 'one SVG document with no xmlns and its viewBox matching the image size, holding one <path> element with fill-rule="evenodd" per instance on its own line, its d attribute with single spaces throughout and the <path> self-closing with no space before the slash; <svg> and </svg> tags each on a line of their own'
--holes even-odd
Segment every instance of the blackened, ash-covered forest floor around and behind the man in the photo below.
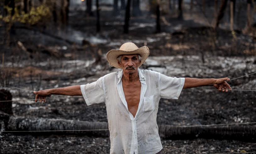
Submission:
<svg viewBox="0 0 256 154">
<path fill-rule="evenodd" d="M 2 38 L 1 89 L 9 90 L 13 96 L 14 114 L 10 116 L 107 122 L 104 103 L 87 106 L 82 97 L 57 95 L 51 96 L 56 99 L 35 103 L 31 100 L 35 98 L 31 91 L 96 81 L 118 70 L 108 64 L 106 53 L 125 42 L 134 42 L 138 47 L 147 45 L 150 50 L 141 69 L 172 77 L 233 79 L 228 81 L 233 90 L 225 93 L 213 86 L 204 86 L 184 89 L 178 100 L 161 99 L 157 115 L 159 125 L 256 126 L 256 92 L 248 91 L 256 90 L 256 74 L 252 74 L 256 72 L 255 36 L 243 30 L 232 33 L 189 18 L 181 21 L 168 16 L 161 20 L 161 32 L 155 33 L 156 19 L 147 13 L 132 17 L 129 33 L 124 34 L 124 17 L 110 19 L 111 16 L 111 11 L 101 11 L 99 33 L 95 17 L 74 11 L 70 12 L 66 27 L 51 25 L 42 30 L 18 25 L 9 45 Z M 0 27 L 1 35 L 4 32 L 5 28 Z M 8 131 L 3 123 L 1 131 Z M 163 153 L 256 153 L 255 139 L 194 136 L 162 137 L 161 141 Z M 110 141 L 109 137 L 102 136 L 0 132 L 0 147 L 0 153 L 95 154 L 109 153 Z"/>
</svg>

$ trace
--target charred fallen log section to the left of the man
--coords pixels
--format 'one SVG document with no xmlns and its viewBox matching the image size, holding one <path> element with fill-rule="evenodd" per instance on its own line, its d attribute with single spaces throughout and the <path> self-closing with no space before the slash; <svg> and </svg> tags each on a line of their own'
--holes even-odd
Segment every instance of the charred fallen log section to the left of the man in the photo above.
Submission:
<svg viewBox="0 0 256 154">
<path fill-rule="evenodd" d="M 32 134 L 61 134 L 109 136 L 107 122 L 73 121 L 64 119 L 19 118 L 11 116 L 6 131 L 21 131 Z M 88 131 L 90 130 L 90 131 Z M 98 131 L 100 130 L 100 131 Z"/>
</svg>

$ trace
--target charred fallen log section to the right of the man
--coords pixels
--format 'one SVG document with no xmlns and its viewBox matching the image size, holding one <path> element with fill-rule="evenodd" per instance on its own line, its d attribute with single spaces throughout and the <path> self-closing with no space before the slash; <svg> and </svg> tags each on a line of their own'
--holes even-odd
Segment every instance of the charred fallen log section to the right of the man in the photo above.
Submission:
<svg viewBox="0 0 256 154">
<path fill-rule="evenodd" d="M 256 142 L 256 127 L 248 125 L 173 127 L 159 126 L 159 134 L 164 139 L 218 139 Z"/>
</svg>

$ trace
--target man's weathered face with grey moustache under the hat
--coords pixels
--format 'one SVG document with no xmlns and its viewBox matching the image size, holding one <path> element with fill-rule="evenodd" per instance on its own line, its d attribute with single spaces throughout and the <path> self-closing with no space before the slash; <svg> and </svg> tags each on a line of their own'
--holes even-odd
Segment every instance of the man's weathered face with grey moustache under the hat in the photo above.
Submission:
<svg viewBox="0 0 256 154">
<path fill-rule="evenodd" d="M 137 54 L 124 54 L 118 64 L 123 68 L 124 73 L 132 74 L 137 71 L 138 66 L 141 64 L 141 60 L 139 60 Z"/>
</svg>

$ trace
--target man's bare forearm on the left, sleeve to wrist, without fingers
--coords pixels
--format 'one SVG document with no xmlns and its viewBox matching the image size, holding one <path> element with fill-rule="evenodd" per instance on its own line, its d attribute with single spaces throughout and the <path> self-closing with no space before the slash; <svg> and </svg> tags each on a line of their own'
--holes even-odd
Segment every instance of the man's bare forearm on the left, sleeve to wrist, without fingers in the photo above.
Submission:
<svg viewBox="0 0 256 154">
<path fill-rule="evenodd" d="M 46 90 L 50 95 L 82 96 L 80 85 L 72 85 L 64 88 Z"/>
</svg>

